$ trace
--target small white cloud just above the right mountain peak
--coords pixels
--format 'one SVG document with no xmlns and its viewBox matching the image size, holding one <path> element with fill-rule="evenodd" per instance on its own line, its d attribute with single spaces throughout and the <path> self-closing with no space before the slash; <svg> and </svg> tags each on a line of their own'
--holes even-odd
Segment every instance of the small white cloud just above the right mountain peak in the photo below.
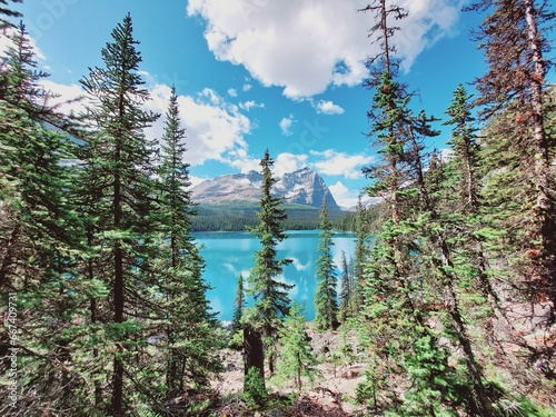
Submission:
<svg viewBox="0 0 556 417">
<path fill-rule="evenodd" d="M 334 149 L 325 150 L 324 152 L 310 151 L 314 157 L 321 159 L 315 162 L 315 168 L 319 173 L 328 176 L 344 176 L 346 179 L 361 178 L 361 167 L 373 162 L 374 157 L 365 153 L 349 155 L 338 152 Z"/>
</svg>

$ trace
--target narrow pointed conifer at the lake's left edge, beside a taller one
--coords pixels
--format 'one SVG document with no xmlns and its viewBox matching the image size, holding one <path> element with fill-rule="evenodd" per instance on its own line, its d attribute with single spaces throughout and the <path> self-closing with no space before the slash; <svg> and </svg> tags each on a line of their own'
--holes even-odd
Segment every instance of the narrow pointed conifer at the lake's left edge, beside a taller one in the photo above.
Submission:
<svg viewBox="0 0 556 417">
<path fill-rule="evenodd" d="M 168 240 L 163 282 L 166 296 L 167 398 L 175 398 L 187 383 L 205 389 L 208 376 L 219 369 L 214 342 L 216 320 L 209 311 L 202 279 L 203 261 L 191 237 L 196 215 L 191 200 L 189 163 L 186 157 L 186 131 L 181 128 L 176 88 L 171 88 L 165 132 L 161 141 L 158 210 L 162 240 Z M 156 282 L 153 282 L 156 285 Z"/>
</svg>

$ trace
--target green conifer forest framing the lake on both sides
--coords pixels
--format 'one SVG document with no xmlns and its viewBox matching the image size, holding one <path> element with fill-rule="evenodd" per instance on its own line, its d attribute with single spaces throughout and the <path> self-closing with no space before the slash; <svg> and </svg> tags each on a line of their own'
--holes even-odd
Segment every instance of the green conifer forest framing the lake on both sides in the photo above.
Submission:
<svg viewBox="0 0 556 417">
<path fill-rule="evenodd" d="M 260 159 L 259 205 L 227 222 L 248 227 L 260 250 L 238 277 L 225 329 L 192 237 L 197 214 L 214 208 L 191 200 L 176 89 L 165 115 L 142 106 L 149 91 L 131 16 L 81 78 L 87 111 L 64 115 L 49 106 L 20 2 L 0 0 L 12 44 L 0 61 L 0 414 L 347 415 L 310 414 L 316 406 L 304 403 L 316 357 L 291 286 L 279 279 L 291 260 L 276 247 L 295 226 L 270 192 L 270 151 Z M 473 37 L 487 71 L 477 95 L 457 87 L 443 120 L 415 110 L 415 87 L 400 81 L 395 34 L 406 10 L 371 0 L 359 12 L 380 46 L 363 86 L 370 108 L 361 109 L 361 147 L 379 155 L 364 171 L 366 192 L 383 202 L 359 202 L 348 220 L 326 203 L 310 214 L 320 229 L 310 326 L 356 335 L 344 355 L 365 363 L 350 399 L 358 416 L 555 416 L 550 2 L 466 7 L 486 12 Z M 165 130 L 152 140 L 145 130 L 158 118 Z M 435 123 L 451 129 L 449 156 L 427 147 Z M 357 245 L 338 279 L 330 246 L 341 228 Z M 226 348 L 241 353 L 245 370 L 232 398 L 210 384 Z M 294 385 L 290 396 L 272 391 L 274 375 Z"/>
</svg>

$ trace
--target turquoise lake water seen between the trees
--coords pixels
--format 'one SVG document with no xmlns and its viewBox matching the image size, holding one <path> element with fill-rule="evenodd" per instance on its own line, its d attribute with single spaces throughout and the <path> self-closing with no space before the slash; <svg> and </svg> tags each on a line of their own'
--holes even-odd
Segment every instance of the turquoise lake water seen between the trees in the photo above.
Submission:
<svg viewBox="0 0 556 417">
<path fill-rule="evenodd" d="M 305 306 L 307 320 L 312 320 L 315 319 L 312 299 L 317 286 L 315 268 L 319 257 L 317 252 L 319 230 L 296 230 L 287 234 L 288 238 L 278 245 L 278 258 L 291 259 L 292 264 L 285 267 L 280 279 L 286 284 L 295 284 L 289 296 Z M 249 270 L 255 265 L 255 251 L 260 249 L 259 240 L 247 231 L 196 232 L 192 236 L 199 245 L 203 246 L 200 255 L 207 264 L 205 280 L 214 287 L 207 292 L 212 309 L 219 311 L 220 320 L 231 320 L 238 277 L 241 274 L 247 280 Z M 355 236 L 336 232 L 332 241 L 331 250 L 339 289 L 341 251 L 346 252 L 349 261 L 355 250 Z"/>
</svg>

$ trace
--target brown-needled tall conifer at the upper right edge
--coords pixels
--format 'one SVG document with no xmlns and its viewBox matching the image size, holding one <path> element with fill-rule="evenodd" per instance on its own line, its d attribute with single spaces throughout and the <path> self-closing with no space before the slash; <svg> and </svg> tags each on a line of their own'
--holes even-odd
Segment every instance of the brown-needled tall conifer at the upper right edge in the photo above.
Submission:
<svg viewBox="0 0 556 417">
<path fill-rule="evenodd" d="M 483 117 L 499 115 L 514 109 L 515 119 L 500 123 L 500 136 L 513 140 L 509 148 L 517 152 L 519 169 L 516 181 L 525 189 L 522 208 L 530 228 L 517 237 L 522 254 L 523 271 L 533 299 L 547 297 L 553 304 L 553 321 L 556 306 L 556 218 L 554 176 L 550 160 L 554 140 L 548 135 L 545 102 L 546 75 L 554 60 L 545 52 L 549 48 L 548 32 L 556 13 L 547 1 L 483 0 L 470 10 L 489 10 L 477 38 L 481 41 L 488 70 L 476 80 L 480 93 L 477 103 L 483 105 Z M 524 188 L 523 183 L 527 187 Z M 532 236 L 534 239 L 532 239 Z M 529 280 L 530 276 L 535 277 Z"/>
</svg>

